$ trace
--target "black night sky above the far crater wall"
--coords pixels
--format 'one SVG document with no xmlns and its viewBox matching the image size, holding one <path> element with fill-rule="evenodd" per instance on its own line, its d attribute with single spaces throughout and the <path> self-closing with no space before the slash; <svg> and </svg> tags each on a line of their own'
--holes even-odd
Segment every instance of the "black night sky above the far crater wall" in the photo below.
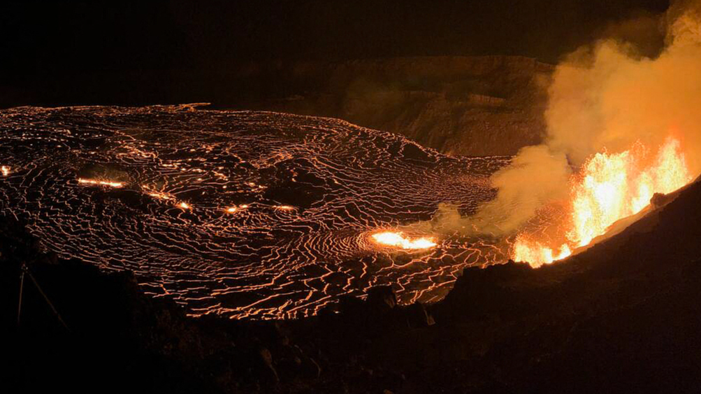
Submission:
<svg viewBox="0 0 701 394">
<path fill-rule="evenodd" d="M 0 86 L 41 88 L 71 75 L 201 71 L 250 60 L 505 54 L 556 62 L 606 23 L 639 11 L 659 13 L 668 3 L 4 1 Z"/>
</svg>

